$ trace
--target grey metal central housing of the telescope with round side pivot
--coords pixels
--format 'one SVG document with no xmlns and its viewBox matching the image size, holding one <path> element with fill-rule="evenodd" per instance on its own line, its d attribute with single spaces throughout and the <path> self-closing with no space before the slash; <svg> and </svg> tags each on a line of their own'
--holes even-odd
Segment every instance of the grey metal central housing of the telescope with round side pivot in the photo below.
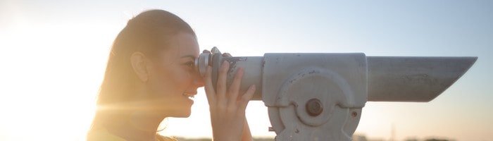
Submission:
<svg viewBox="0 0 493 141">
<path fill-rule="evenodd" d="M 275 140 L 351 140 L 366 103 L 364 54 L 264 54 L 262 100 Z M 307 105 L 320 101 L 320 113 Z"/>
</svg>

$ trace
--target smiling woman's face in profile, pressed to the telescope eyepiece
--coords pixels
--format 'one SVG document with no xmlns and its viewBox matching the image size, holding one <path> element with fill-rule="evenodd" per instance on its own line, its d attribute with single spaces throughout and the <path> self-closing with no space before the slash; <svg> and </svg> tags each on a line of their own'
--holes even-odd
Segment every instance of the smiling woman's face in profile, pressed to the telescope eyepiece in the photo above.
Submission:
<svg viewBox="0 0 493 141">
<path fill-rule="evenodd" d="M 188 117 L 194 101 L 190 99 L 204 81 L 195 71 L 199 44 L 194 35 L 180 32 L 168 39 L 168 47 L 158 52 L 149 68 L 146 83 L 151 104 L 165 116 Z"/>
</svg>

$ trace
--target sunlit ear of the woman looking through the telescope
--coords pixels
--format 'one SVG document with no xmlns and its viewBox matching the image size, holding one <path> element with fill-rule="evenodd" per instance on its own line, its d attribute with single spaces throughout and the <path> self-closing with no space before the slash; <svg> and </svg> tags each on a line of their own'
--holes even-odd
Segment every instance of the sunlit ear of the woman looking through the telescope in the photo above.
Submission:
<svg viewBox="0 0 493 141">
<path fill-rule="evenodd" d="M 132 56 L 130 56 L 130 63 L 132 63 L 132 68 L 134 69 L 135 74 L 139 77 L 139 80 L 142 82 L 147 82 L 149 78 L 149 72 L 147 71 L 146 56 L 141 52 L 134 52 Z"/>
</svg>

